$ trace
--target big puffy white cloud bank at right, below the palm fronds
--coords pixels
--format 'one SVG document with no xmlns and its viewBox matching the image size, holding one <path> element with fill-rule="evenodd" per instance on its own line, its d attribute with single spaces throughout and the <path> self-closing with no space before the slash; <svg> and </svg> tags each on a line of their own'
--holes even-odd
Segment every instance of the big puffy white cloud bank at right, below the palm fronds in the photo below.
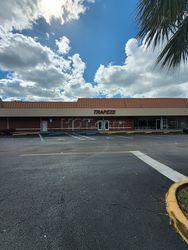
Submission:
<svg viewBox="0 0 188 250">
<path fill-rule="evenodd" d="M 130 39 L 125 46 L 123 65 L 100 65 L 95 82 L 112 97 L 188 97 L 188 64 L 167 72 L 155 65 L 161 47 L 153 50 Z"/>
</svg>

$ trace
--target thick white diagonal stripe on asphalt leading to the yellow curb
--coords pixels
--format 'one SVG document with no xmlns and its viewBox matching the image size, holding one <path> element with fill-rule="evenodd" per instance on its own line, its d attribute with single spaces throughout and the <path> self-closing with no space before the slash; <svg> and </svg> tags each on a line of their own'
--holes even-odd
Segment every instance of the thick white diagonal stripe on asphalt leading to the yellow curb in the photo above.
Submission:
<svg viewBox="0 0 188 250">
<path fill-rule="evenodd" d="M 170 180 L 177 182 L 187 179 L 188 177 L 180 174 L 179 172 L 171 169 L 170 167 L 166 166 L 165 164 L 160 163 L 159 161 L 154 160 L 153 158 L 147 156 L 146 154 L 140 151 L 130 151 L 133 155 L 137 158 L 157 170 L 162 175 L 166 176 Z"/>
</svg>

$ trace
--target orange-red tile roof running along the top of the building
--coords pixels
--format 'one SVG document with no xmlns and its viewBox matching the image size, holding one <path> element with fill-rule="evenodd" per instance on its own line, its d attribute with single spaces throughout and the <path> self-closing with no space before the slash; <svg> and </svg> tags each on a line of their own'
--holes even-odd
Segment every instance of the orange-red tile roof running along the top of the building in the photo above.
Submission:
<svg viewBox="0 0 188 250">
<path fill-rule="evenodd" d="M 0 102 L 0 108 L 188 108 L 187 98 L 80 98 L 76 102 Z"/>
</svg>

